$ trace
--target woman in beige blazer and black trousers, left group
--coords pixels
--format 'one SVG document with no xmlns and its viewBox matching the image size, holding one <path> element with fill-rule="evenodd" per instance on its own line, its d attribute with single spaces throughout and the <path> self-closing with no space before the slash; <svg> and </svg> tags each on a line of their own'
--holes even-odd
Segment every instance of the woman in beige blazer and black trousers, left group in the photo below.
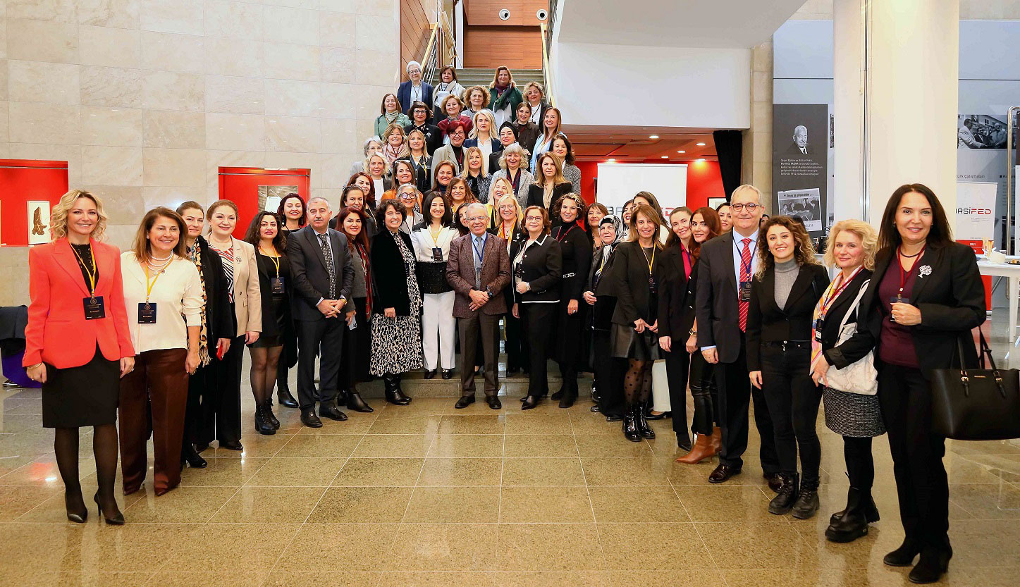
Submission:
<svg viewBox="0 0 1020 587">
<path fill-rule="evenodd" d="M 235 238 L 238 206 L 230 200 L 213 202 L 205 213 L 209 222 L 209 248 L 223 261 L 226 291 L 235 319 L 235 338 L 222 357 L 209 366 L 218 385 L 210 402 L 202 405 L 196 449 L 201 452 L 215 438 L 220 448 L 243 450 L 241 445 L 241 363 L 245 344 L 258 340 L 262 331 L 262 295 L 258 282 L 255 247 Z"/>
</svg>

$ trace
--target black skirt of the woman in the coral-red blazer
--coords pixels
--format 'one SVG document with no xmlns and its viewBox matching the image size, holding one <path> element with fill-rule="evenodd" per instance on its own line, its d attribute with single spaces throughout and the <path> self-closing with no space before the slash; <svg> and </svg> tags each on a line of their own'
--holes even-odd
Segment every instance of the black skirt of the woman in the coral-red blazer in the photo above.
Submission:
<svg viewBox="0 0 1020 587">
<path fill-rule="evenodd" d="M 115 424 L 119 397 L 120 362 L 107 360 L 97 344 L 92 360 L 81 367 L 46 365 L 43 427 Z"/>
</svg>

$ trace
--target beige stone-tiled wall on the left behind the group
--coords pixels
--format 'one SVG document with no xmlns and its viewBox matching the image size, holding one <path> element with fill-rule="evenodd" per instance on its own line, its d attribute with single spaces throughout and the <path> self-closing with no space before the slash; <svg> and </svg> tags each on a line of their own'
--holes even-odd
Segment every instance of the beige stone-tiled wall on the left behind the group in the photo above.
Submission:
<svg viewBox="0 0 1020 587">
<path fill-rule="evenodd" d="M 399 64 L 398 0 L 0 2 L 0 158 L 68 162 L 109 241 L 217 197 L 225 166 L 309 167 L 339 202 Z M 0 248 L 0 305 L 28 302 Z"/>
</svg>

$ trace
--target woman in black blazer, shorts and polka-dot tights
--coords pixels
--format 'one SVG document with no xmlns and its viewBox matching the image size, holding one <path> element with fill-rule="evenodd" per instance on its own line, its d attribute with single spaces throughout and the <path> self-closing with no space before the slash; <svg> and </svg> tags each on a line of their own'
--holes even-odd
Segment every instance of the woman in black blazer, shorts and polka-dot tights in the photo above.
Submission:
<svg viewBox="0 0 1020 587">
<path fill-rule="evenodd" d="M 616 249 L 613 262 L 613 357 L 627 360 L 623 379 L 623 436 L 631 442 L 655 438 L 646 420 L 652 396 L 652 365 L 659 355 L 659 284 L 662 279 L 660 216 L 642 204 L 630 216 L 630 237 Z"/>
</svg>

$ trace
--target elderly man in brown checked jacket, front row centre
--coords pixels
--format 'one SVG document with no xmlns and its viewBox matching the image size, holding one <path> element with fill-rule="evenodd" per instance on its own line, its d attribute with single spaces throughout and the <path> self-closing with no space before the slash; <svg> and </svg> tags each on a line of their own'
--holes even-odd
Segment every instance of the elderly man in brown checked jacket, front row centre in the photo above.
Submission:
<svg viewBox="0 0 1020 587">
<path fill-rule="evenodd" d="M 474 403 L 474 352 L 478 336 L 484 353 L 486 402 L 493 410 L 503 406 L 497 360 L 499 359 L 499 322 L 507 307 L 503 288 L 510 284 L 510 257 L 506 241 L 486 230 L 489 213 L 481 204 L 467 208 L 470 232 L 450 244 L 447 281 L 457 292 L 453 315 L 459 318 L 461 352 L 461 397 L 456 408 Z"/>
</svg>

